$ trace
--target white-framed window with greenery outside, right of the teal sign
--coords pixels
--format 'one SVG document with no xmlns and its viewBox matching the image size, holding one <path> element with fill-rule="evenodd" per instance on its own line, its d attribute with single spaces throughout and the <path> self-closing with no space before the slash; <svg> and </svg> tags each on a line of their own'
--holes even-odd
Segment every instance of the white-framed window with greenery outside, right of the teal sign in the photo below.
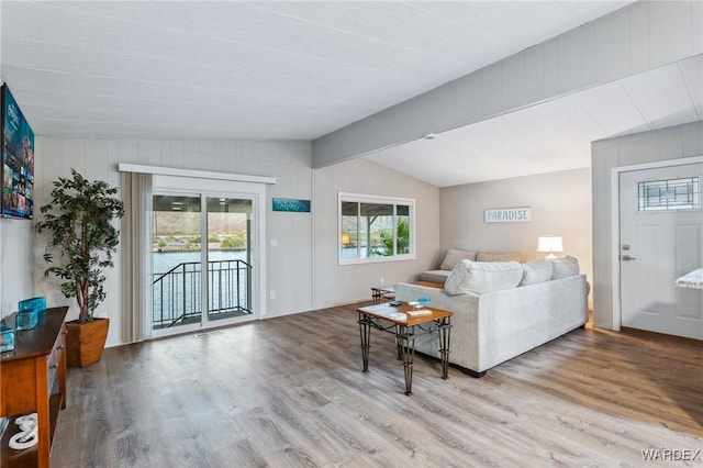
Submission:
<svg viewBox="0 0 703 468">
<path fill-rule="evenodd" d="M 339 192 L 339 265 L 415 258 L 415 200 Z"/>
</svg>

